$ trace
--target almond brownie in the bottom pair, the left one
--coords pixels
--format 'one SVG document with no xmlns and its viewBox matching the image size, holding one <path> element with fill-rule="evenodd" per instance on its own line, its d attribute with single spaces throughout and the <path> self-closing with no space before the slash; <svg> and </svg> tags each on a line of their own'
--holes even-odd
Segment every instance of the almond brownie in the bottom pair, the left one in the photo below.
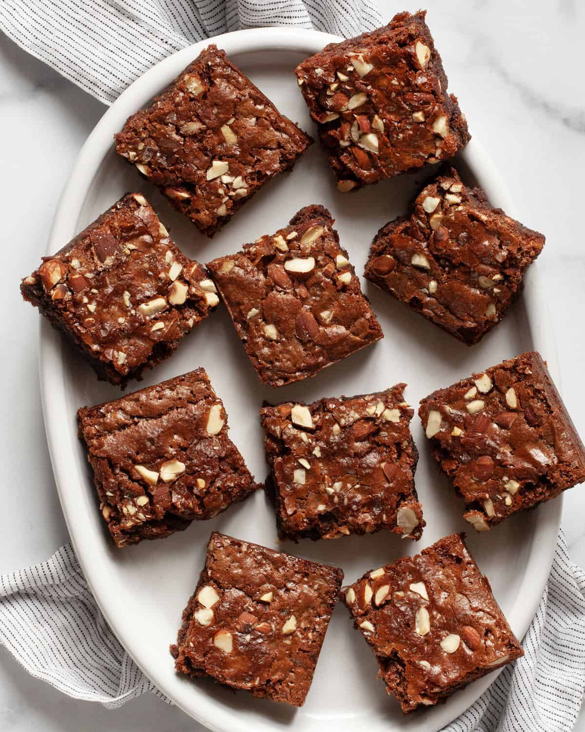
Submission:
<svg viewBox="0 0 585 732">
<path fill-rule="evenodd" d="M 175 668 L 302 706 L 343 572 L 214 531 L 183 612 Z"/>
</svg>

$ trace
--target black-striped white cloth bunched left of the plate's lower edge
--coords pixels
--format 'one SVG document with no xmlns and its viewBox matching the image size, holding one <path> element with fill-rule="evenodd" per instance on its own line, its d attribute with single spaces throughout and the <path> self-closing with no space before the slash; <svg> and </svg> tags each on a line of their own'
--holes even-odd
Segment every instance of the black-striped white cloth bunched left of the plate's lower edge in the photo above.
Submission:
<svg viewBox="0 0 585 732">
<path fill-rule="evenodd" d="M 107 626 L 71 545 L 0 577 L 0 643 L 32 676 L 76 699 L 117 707 L 146 691 L 165 698 Z"/>
</svg>

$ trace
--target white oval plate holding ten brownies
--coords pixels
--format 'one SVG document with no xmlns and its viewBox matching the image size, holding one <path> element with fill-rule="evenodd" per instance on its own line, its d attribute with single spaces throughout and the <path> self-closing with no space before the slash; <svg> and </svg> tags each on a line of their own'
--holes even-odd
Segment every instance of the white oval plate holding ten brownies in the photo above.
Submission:
<svg viewBox="0 0 585 732">
<path fill-rule="evenodd" d="M 293 75 L 298 61 L 339 40 L 316 31 L 260 29 L 238 31 L 214 39 L 235 64 L 260 86 L 278 108 L 309 132 L 309 119 Z M 138 173 L 120 160 L 113 149 L 113 134 L 127 116 L 143 106 L 192 61 L 207 42 L 175 53 L 146 72 L 105 113 L 89 136 L 67 183 L 53 224 L 48 253 L 59 250 L 128 190 L 143 191 L 170 228 L 186 255 L 200 262 L 239 250 L 261 234 L 270 234 L 309 203 L 328 206 L 336 217 L 341 244 L 350 252 L 358 272 L 377 229 L 404 212 L 423 174 L 401 176 L 353 195 L 335 190 L 324 154 L 314 144 L 288 176 L 271 182 L 246 204 L 213 242 L 170 209 L 167 202 Z M 470 124 L 473 131 L 473 120 Z M 505 185 L 480 145 L 472 140 L 460 158 L 468 179 L 475 178 L 493 203 L 516 215 Z M 529 222 L 528 222 L 529 223 Z M 224 400 L 230 434 L 260 481 L 266 468 L 258 408 L 262 400 L 312 401 L 321 396 L 354 395 L 385 389 L 407 381 L 407 400 L 418 400 L 439 386 L 447 386 L 474 370 L 481 370 L 535 348 L 556 378 L 554 341 L 545 299 L 537 298 L 537 268 L 529 270 L 524 296 L 497 329 L 480 345 L 467 348 L 390 296 L 364 283 L 380 318 L 384 340 L 327 369 L 317 378 L 274 390 L 257 379 L 223 307 L 195 329 L 175 355 L 146 373 L 141 386 L 155 384 L 203 366 Z M 323 732 L 435 731 L 474 702 L 494 674 L 458 692 L 445 704 L 404 718 L 382 681 L 377 663 L 360 634 L 352 629 L 347 611 L 333 615 L 312 689 L 301 710 L 233 693 L 212 681 L 190 681 L 173 670 L 168 646 L 176 640 L 181 611 L 203 567 L 205 545 L 212 529 L 241 539 L 317 561 L 343 567 L 346 581 L 366 569 L 379 567 L 404 553 L 416 553 L 453 531 L 469 527 L 461 518 L 463 504 L 439 475 L 431 460 L 418 417 L 412 421 L 420 449 L 416 485 L 423 502 L 427 527 L 417 544 L 390 532 L 341 541 L 298 545 L 280 543 L 274 517 L 262 492 L 231 507 L 218 518 L 194 522 L 183 533 L 157 542 L 116 550 L 108 540 L 97 510 L 97 498 L 86 456 L 77 438 L 75 412 L 79 406 L 120 396 L 109 384 L 99 383 L 67 343 L 43 322 L 40 334 L 42 400 L 53 471 L 67 526 L 89 585 L 107 622 L 146 675 L 187 714 L 208 728 L 232 732 L 279 730 L 294 724 L 298 732 L 317 725 Z M 551 362 L 552 360 L 552 362 Z M 138 388 L 132 384 L 129 390 Z M 561 515 L 561 501 L 516 515 L 488 534 L 471 531 L 469 545 L 491 579 L 494 594 L 519 637 L 524 635 L 537 608 L 548 576 Z"/>
</svg>

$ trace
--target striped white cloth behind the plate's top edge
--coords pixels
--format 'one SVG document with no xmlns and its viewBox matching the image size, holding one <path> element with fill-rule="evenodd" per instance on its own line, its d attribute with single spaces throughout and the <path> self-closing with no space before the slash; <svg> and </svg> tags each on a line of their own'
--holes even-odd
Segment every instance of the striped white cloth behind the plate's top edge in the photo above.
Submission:
<svg viewBox="0 0 585 732">
<path fill-rule="evenodd" d="M 261 26 L 350 38 L 382 24 L 369 0 L 1 0 L 0 30 L 111 104 L 158 61 L 203 38 Z"/>
</svg>

